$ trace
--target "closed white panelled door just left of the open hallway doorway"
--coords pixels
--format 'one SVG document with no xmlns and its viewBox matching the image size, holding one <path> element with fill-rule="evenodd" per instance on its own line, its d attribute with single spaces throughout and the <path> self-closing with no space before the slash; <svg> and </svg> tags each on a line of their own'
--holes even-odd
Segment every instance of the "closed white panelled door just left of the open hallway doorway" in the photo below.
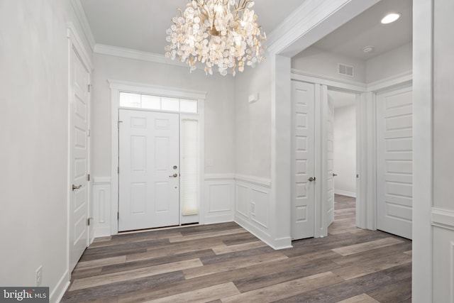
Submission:
<svg viewBox="0 0 454 303">
<path fill-rule="evenodd" d="M 314 236 L 314 84 L 292 81 L 292 239 Z"/>
</svg>

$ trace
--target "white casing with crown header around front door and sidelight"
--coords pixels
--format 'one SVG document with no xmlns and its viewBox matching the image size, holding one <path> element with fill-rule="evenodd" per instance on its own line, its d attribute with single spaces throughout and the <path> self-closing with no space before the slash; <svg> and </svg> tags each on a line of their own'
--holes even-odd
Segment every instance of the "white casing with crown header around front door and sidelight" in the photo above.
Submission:
<svg viewBox="0 0 454 303">
<path fill-rule="evenodd" d="M 204 224 L 204 101 L 206 92 L 108 79 L 111 89 L 111 235 L 118 233 L 118 109 L 120 92 L 196 99 L 199 109 L 199 224 Z M 181 119 L 181 117 L 180 117 Z M 181 214 L 180 214 L 181 215 Z M 181 216 L 180 216 L 181 218 Z"/>
</svg>

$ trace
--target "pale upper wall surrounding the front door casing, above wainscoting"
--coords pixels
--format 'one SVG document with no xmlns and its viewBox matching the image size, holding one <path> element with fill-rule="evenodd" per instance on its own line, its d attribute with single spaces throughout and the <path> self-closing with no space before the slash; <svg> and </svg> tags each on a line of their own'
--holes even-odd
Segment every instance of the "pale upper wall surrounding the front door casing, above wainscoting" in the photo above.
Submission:
<svg viewBox="0 0 454 303">
<path fill-rule="evenodd" d="M 111 55 L 94 55 L 93 174 L 111 175 L 111 90 L 107 79 L 193 89 L 207 92 L 205 100 L 206 174 L 232 173 L 235 170 L 235 85 L 231 75 L 206 76 L 189 67 L 162 65 Z"/>
</svg>

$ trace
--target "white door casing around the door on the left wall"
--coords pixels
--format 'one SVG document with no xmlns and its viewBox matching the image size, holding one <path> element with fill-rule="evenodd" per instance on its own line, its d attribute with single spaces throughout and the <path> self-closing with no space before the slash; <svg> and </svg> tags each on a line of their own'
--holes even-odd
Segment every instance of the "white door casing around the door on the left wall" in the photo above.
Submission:
<svg viewBox="0 0 454 303">
<path fill-rule="evenodd" d="M 71 272 L 69 271 L 70 269 L 70 224 L 72 222 L 71 220 L 71 199 L 72 199 L 72 171 L 71 171 L 71 162 L 72 162 L 72 115 L 71 115 L 71 102 L 72 98 L 74 96 L 72 92 L 72 83 L 71 83 L 71 72 L 72 72 L 72 51 L 79 56 L 79 58 L 82 60 L 82 64 L 84 67 L 87 69 L 89 72 L 89 78 L 91 78 L 92 75 L 92 70 L 94 70 L 94 65 L 92 62 L 91 57 L 89 56 L 89 53 L 87 52 L 86 48 L 84 48 L 84 44 L 82 43 L 82 40 L 77 33 L 74 25 L 72 23 L 67 23 L 67 38 L 68 38 L 68 163 L 67 163 L 67 269 L 68 269 L 68 279 L 70 279 Z M 90 82 L 89 82 L 90 83 Z M 89 95 L 89 108 L 88 108 L 88 129 L 91 127 L 91 95 Z M 90 173 L 91 171 L 91 137 L 88 136 L 87 140 L 87 147 L 88 147 L 88 172 Z M 93 210 L 92 210 L 92 182 L 87 181 L 87 203 L 88 203 L 88 217 L 92 217 Z M 87 218 L 88 219 L 88 218 Z M 89 246 L 90 243 L 94 240 L 94 228 L 92 225 L 88 226 L 88 242 L 87 246 Z"/>
</svg>

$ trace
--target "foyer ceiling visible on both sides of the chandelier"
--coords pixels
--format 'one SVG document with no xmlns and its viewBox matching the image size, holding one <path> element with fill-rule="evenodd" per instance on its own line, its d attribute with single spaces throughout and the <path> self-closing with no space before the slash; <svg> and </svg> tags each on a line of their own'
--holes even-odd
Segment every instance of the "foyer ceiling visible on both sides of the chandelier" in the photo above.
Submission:
<svg viewBox="0 0 454 303">
<path fill-rule="evenodd" d="M 271 33 L 304 0 L 257 0 L 258 24 Z M 164 55 L 165 31 L 186 0 L 81 0 L 96 43 Z M 285 3 L 285 5 L 283 5 Z"/>
</svg>

